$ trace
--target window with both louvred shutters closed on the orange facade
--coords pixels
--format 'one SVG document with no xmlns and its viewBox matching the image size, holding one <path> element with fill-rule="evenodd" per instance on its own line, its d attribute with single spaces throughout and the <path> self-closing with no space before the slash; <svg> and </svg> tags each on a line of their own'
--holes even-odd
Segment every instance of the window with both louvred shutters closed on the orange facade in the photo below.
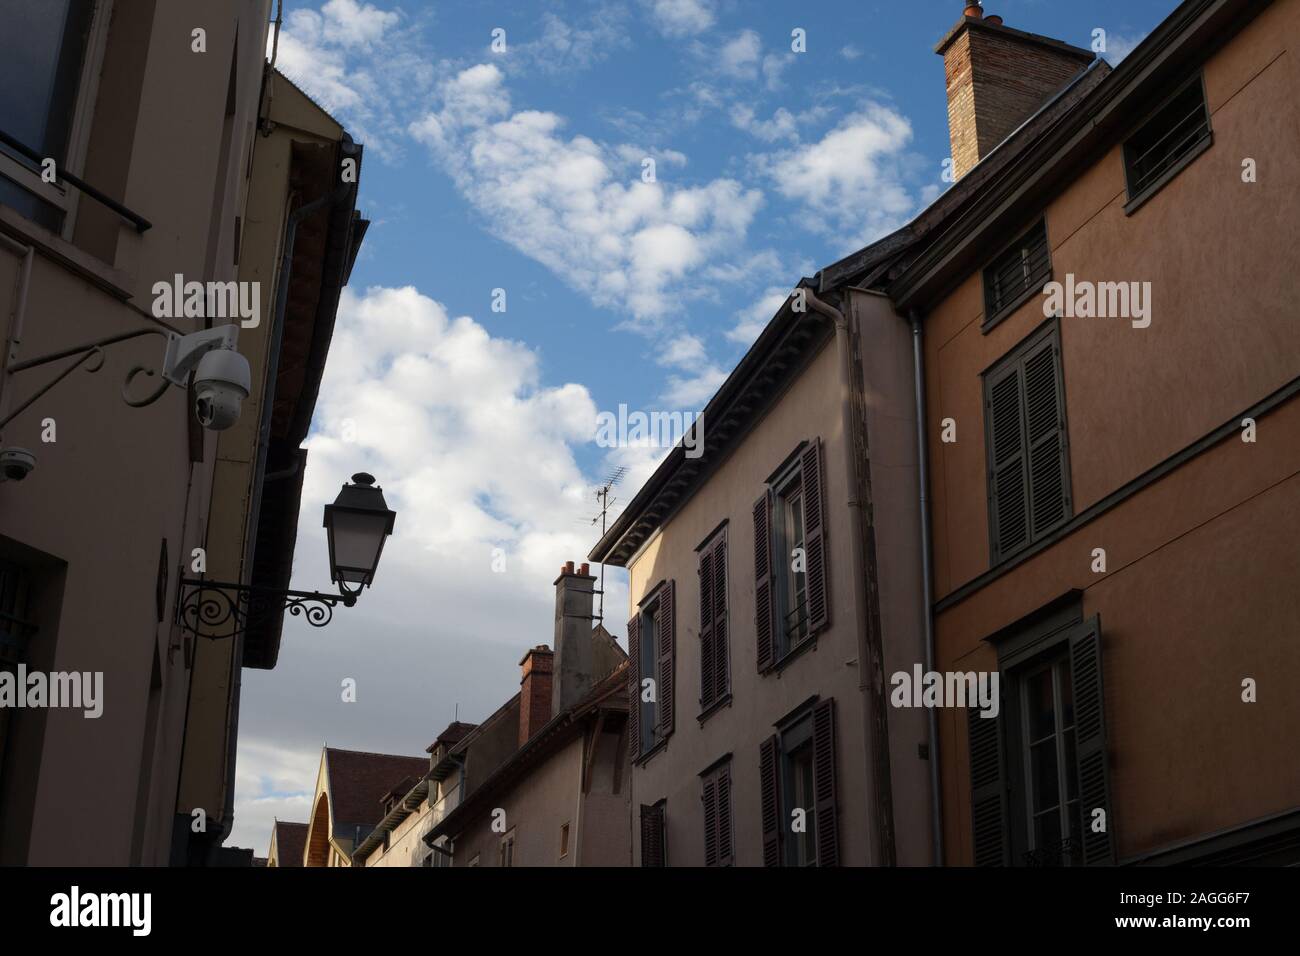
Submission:
<svg viewBox="0 0 1300 956">
<path fill-rule="evenodd" d="M 989 550 L 997 564 L 1070 519 L 1061 334 L 1056 321 L 984 375 Z"/>
</svg>

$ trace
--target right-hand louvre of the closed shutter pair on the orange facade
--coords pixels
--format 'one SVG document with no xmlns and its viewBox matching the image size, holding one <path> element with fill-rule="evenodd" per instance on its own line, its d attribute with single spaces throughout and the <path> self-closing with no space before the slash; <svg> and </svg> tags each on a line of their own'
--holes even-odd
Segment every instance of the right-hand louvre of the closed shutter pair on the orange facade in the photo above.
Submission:
<svg viewBox="0 0 1300 956">
<path fill-rule="evenodd" d="M 1070 515 L 1061 350 L 1056 336 L 1048 336 L 1024 356 L 1024 410 L 1030 536 L 1039 538 Z"/>
</svg>

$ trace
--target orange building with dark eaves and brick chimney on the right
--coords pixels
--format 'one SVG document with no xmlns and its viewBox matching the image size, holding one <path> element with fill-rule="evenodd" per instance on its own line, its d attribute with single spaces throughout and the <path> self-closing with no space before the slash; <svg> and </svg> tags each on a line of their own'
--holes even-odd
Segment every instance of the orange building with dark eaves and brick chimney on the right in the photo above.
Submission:
<svg viewBox="0 0 1300 956">
<path fill-rule="evenodd" d="M 961 177 L 819 276 L 923 342 L 935 667 L 997 682 L 935 709 L 944 862 L 1300 860 L 1297 44 L 1187 0 L 1112 70 L 972 4 Z"/>
</svg>

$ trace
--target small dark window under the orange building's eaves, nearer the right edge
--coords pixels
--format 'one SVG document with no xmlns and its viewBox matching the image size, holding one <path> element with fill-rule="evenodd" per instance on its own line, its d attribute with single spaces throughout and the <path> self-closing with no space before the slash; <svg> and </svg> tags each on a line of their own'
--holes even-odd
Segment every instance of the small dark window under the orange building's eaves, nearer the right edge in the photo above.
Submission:
<svg viewBox="0 0 1300 956">
<path fill-rule="evenodd" d="M 1171 96 L 1124 143 L 1127 212 L 1182 172 L 1213 142 L 1205 86 L 1197 75 Z"/>
</svg>

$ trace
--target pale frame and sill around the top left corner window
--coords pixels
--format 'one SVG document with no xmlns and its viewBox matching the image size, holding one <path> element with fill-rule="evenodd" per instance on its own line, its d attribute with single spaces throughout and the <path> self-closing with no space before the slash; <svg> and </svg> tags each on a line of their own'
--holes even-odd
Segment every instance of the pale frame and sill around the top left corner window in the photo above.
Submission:
<svg viewBox="0 0 1300 956">
<path fill-rule="evenodd" d="M 68 129 L 68 156 L 57 168 L 60 176 L 65 169 L 74 176 L 81 176 L 90 147 L 95 103 L 99 99 L 99 81 L 104 70 L 104 53 L 108 48 L 108 27 L 113 18 L 113 0 L 92 0 L 92 4 L 90 29 L 86 33 L 86 51 L 82 56 L 81 77 L 77 81 L 77 96 L 73 103 L 73 117 Z M 40 202 L 58 209 L 62 213 L 62 221 L 56 235 L 68 242 L 72 241 L 77 226 L 81 190 L 66 183 L 44 182 L 39 170 L 34 172 L 3 150 L 0 150 L 0 176 Z"/>
</svg>

